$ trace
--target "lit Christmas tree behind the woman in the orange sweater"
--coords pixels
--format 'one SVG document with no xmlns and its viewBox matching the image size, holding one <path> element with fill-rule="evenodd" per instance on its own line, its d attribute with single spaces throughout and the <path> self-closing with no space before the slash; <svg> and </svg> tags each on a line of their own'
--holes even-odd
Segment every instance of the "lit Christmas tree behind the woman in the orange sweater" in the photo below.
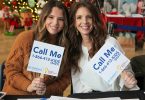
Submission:
<svg viewBox="0 0 145 100">
<path fill-rule="evenodd" d="M 41 9 L 48 0 L 4 0 L 4 6 L 10 7 L 11 11 L 23 12 L 24 9 L 30 9 L 33 20 L 37 21 Z"/>
</svg>

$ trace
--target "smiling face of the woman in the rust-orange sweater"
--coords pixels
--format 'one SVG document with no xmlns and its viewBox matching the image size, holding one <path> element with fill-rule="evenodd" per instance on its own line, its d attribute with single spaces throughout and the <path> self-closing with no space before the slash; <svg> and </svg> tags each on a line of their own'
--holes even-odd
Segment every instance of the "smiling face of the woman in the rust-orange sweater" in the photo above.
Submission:
<svg viewBox="0 0 145 100">
<path fill-rule="evenodd" d="M 53 7 L 46 19 L 45 26 L 51 35 L 59 33 L 64 27 L 63 11 L 58 7 Z"/>
</svg>

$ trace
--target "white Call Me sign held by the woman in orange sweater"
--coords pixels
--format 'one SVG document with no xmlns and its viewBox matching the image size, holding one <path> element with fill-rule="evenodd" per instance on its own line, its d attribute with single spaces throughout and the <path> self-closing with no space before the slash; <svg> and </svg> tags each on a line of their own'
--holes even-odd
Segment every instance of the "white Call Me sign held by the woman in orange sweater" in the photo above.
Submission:
<svg viewBox="0 0 145 100">
<path fill-rule="evenodd" d="M 57 76 L 64 47 L 34 41 L 28 63 L 28 71 Z"/>
</svg>

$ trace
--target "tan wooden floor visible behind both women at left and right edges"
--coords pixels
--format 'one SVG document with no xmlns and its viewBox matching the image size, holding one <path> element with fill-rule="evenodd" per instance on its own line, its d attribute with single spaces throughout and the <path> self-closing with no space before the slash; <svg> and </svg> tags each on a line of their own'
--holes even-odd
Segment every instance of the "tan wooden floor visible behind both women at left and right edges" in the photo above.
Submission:
<svg viewBox="0 0 145 100">
<path fill-rule="evenodd" d="M 22 29 L 17 29 L 15 30 L 15 33 L 16 35 L 14 36 L 6 36 L 4 35 L 3 33 L 3 26 L 0 26 L 0 64 L 7 58 L 7 55 L 10 51 L 10 48 L 15 40 L 15 38 L 17 37 L 17 34 L 22 31 Z M 134 56 L 137 56 L 137 55 L 143 55 L 145 54 L 145 44 L 144 44 L 144 49 L 142 50 L 138 50 L 138 51 L 135 51 L 133 49 L 130 49 L 130 48 L 123 48 L 125 53 L 126 53 L 126 56 L 128 58 L 132 58 Z"/>
</svg>

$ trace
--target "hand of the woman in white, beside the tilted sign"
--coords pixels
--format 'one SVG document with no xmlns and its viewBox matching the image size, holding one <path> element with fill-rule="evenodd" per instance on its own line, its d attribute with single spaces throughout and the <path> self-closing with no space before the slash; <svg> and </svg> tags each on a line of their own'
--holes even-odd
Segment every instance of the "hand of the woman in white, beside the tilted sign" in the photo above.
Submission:
<svg viewBox="0 0 145 100">
<path fill-rule="evenodd" d="M 126 88 L 133 88 L 137 84 L 137 80 L 135 79 L 133 73 L 129 71 L 123 71 L 122 78 Z"/>
</svg>

